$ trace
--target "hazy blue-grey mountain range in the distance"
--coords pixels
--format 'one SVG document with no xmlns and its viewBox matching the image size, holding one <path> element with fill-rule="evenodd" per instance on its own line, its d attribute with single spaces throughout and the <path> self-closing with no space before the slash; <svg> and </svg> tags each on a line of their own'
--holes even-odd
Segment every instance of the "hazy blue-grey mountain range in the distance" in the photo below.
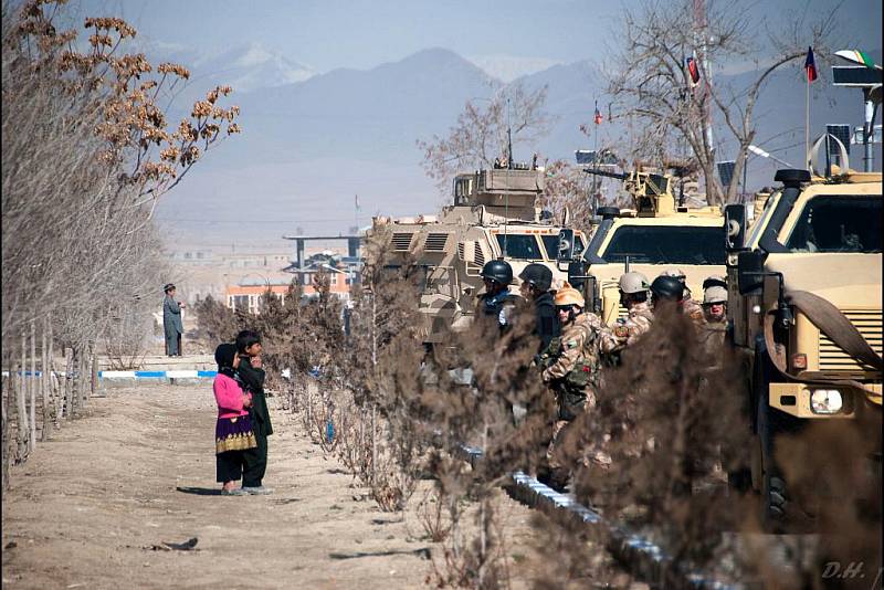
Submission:
<svg viewBox="0 0 884 590">
<path fill-rule="evenodd" d="M 262 240 L 298 228 L 307 234 L 337 233 L 366 224 L 371 214 L 436 210 L 444 199 L 420 167 L 415 140 L 444 135 L 467 101 L 487 98 L 506 84 L 445 49 L 367 71 L 327 73 L 254 44 L 194 62 L 177 104 L 214 84 L 230 84 L 243 129 L 207 155 L 159 207 L 162 226 L 176 240 L 194 243 L 225 242 L 246 228 Z M 719 82 L 743 87 L 753 76 Z M 757 143 L 793 164 L 803 151 L 802 80 L 800 64 L 778 71 L 756 106 Z M 579 127 L 591 122 L 596 98 L 606 116 L 607 103 L 604 81 L 591 62 L 555 64 L 514 83 L 546 85 L 545 110 L 552 120 L 537 145 L 516 145 L 517 159 L 539 152 L 573 161 L 575 149 L 592 148 L 593 138 Z M 861 124 L 859 91 L 815 83 L 812 96 L 813 135 L 825 123 Z M 607 122 L 598 129 L 600 143 L 622 131 Z M 723 144 L 722 159 L 733 158 L 724 154 L 728 148 Z M 771 183 L 775 169 L 769 161 L 750 161 L 749 188 Z"/>
</svg>

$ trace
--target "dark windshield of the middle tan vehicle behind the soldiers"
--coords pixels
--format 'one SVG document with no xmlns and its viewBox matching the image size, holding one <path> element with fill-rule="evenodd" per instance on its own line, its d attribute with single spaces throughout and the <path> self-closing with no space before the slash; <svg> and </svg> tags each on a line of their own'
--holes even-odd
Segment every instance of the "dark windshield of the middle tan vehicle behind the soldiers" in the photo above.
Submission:
<svg viewBox="0 0 884 590">
<path fill-rule="evenodd" d="M 606 262 L 724 264 L 724 225 L 622 225 L 601 254 Z"/>
</svg>

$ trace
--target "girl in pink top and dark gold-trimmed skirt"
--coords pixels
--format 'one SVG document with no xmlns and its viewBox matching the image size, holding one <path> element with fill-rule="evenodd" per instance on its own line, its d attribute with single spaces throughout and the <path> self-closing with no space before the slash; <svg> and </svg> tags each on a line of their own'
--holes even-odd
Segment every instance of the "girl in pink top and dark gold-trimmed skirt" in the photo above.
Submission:
<svg viewBox="0 0 884 590">
<path fill-rule="evenodd" d="M 252 396 L 244 393 L 236 382 L 240 356 L 232 344 L 222 344 L 214 351 L 218 376 L 212 389 L 218 402 L 218 422 L 214 428 L 214 445 L 218 481 L 222 482 L 222 496 L 244 496 L 248 492 L 236 488 L 242 477 L 243 457 L 246 449 L 256 446 L 255 433 L 248 408 Z"/>
</svg>

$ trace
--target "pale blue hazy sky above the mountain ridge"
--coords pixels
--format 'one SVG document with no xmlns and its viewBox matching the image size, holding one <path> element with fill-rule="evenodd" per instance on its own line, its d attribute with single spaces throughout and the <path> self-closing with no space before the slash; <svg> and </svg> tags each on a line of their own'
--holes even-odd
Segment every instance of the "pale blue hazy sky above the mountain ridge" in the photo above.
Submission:
<svg viewBox="0 0 884 590">
<path fill-rule="evenodd" d="M 624 9 L 645 0 L 83 0 L 122 14 L 152 41 L 208 55 L 257 42 L 317 72 L 369 69 L 441 46 L 515 67 L 606 52 Z M 657 0 L 665 6 L 665 0 Z M 712 4 L 713 1 L 707 0 Z M 735 1 L 735 0 L 729 0 Z M 736 0 L 756 15 L 813 19 L 841 6 L 846 40 L 881 44 L 882 0 Z M 779 19 L 771 19 L 779 20 Z"/>
</svg>

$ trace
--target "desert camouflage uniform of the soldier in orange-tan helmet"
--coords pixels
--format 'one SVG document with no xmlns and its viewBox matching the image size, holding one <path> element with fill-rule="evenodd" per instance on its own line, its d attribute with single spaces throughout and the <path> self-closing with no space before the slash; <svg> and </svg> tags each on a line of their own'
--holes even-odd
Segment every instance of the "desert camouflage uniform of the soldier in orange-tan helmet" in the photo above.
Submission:
<svg viewBox="0 0 884 590">
<path fill-rule="evenodd" d="M 547 462 L 560 477 L 566 474 L 561 474 L 564 466 L 555 456 L 556 446 L 565 436 L 568 424 L 581 412 L 596 407 L 599 334 L 602 328 L 601 319 L 592 313 L 580 314 L 573 323 L 564 326 L 558 350 L 554 351 L 552 362 L 541 375 L 558 401 L 558 418 L 552 426 Z"/>
</svg>

